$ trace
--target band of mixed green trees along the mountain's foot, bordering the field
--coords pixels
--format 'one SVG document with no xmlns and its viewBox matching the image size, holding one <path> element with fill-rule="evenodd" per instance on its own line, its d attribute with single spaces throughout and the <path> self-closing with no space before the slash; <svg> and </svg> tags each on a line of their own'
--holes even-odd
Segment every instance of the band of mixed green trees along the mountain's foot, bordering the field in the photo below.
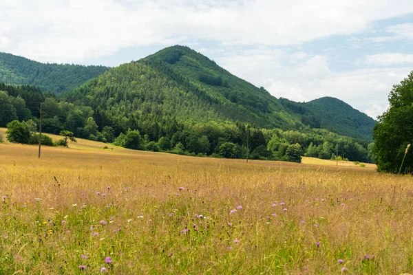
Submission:
<svg viewBox="0 0 413 275">
<path fill-rule="evenodd" d="M 219 119 L 182 122 L 162 110 L 117 117 L 116 111 L 122 113 L 125 106 L 109 108 L 112 111 L 107 113 L 99 104 L 91 107 L 80 100 L 67 102 L 54 94 L 44 94 L 37 87 L 3 83 L 0 84 L 0 126 L 20 120 L 38 127 L 40 105 L 37 102 L 43 102 L 45 133 L 71 131 L 76 137 L 113 142 L 126 148 L 229 158 L 244 158 L 249 153 L 251 159 L 290 161 L 297 161 L 297 154 L 334 159 L 338 149 L 342 158 L 374 162 L 372 143 L 325 129 L 306 128 L 304 132 L 261 129 L 251 123 Z"/>
</svg>

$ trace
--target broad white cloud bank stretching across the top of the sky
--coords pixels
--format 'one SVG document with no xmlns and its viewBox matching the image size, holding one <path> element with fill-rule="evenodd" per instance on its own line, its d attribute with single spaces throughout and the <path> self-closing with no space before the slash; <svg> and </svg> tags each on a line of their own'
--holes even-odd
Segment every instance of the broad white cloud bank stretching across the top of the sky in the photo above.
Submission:
<svg viewBox="0 0 413 275">
<path fill-rule="evenodd" d="M 197 39 L 299 45 L 363 32 L 372 21 L 411 12 L 408 0 L 1 0 L 0 51 L 76 62 L 123 47 Z"/>
</svg>

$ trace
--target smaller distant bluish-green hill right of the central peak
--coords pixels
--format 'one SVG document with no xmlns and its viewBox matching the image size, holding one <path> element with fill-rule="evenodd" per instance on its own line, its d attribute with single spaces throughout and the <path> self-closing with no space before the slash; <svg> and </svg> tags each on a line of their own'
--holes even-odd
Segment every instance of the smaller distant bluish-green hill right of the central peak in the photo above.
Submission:
<svg viewBox="0 0 413 275">
<path fill-rule="evenodd" d="M 280 102 L 301 117 L 301 122 L 314 128 L 372 140 L 372 129 L 377 123 L 337 98 L 324 97 L 309 102 L 294 102 L 280 98 Z"/>
</svg>

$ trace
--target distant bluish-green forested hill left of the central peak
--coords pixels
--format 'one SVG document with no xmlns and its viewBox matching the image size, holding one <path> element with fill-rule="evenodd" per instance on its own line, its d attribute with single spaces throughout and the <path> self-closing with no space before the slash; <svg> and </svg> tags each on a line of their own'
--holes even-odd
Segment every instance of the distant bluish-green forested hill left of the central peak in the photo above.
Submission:
<svg viewBox="0 0 413 275">
<path fill-rule="evenodd" d="M 36 85 L 43 91 L 70 91 L 108 67 L 69 64 L 44 64 L 28 58 L 0 52 L 0 82 L 14 85 Z"/>
</svg>

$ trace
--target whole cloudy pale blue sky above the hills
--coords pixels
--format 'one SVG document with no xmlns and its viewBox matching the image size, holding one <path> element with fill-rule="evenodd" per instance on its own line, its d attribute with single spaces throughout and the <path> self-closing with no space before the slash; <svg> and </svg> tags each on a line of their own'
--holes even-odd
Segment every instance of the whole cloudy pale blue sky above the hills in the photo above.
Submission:
<svg viewBox="0 0 413 275">
<path fill-rule="evenodd" d="M 413 70 L 412 0 L 0 0 L 0 52 L 107 65 L 187 45 L 273 96 L 372 118 Z"/>
</svg>

